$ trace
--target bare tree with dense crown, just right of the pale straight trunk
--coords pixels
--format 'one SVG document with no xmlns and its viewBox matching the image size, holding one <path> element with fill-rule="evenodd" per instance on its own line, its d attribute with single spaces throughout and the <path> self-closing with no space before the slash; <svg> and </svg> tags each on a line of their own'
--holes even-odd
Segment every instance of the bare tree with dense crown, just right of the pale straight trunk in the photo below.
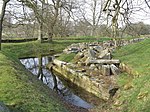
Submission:
<svg viewBox="0 0 150 112">
<path fill-rule="evenodd" d="M 68 24 L 72 10 L 72 2 L 70 0 L 52 0 L 52 3 L 48 4 L 46 9 L 44 16 L 45 26 L 48 39 L 52 41 L 54 33 L 59 32 L 59 29 L 64 25 L 64 21 L 66 21 L 65 25 Z M 55 31 L 56 28 L 58 28 L 58 31 Z"/>
</svg>

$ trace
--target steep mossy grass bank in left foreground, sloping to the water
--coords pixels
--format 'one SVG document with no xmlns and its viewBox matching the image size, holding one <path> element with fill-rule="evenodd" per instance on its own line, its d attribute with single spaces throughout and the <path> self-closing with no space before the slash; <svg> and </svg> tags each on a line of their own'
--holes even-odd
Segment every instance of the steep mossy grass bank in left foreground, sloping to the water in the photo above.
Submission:
<svg viewBox="0 0 150 112">
<path fill-rule="evenodd" d="M 67 112 L 55 93 L 12 54 L 0 52 L 0 100 L 14 112 Z"/>
</svg>

